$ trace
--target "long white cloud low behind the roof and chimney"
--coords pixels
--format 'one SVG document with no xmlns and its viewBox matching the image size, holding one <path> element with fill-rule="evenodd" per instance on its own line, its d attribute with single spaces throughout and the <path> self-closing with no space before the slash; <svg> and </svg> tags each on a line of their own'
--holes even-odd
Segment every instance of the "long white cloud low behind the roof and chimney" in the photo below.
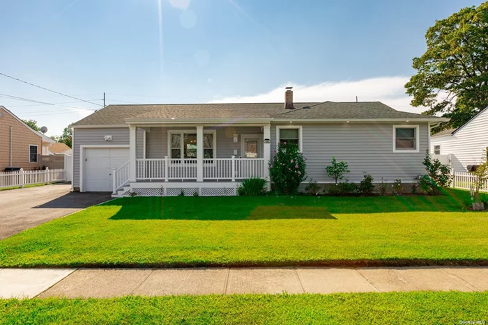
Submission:
<svg viewBox="0 0 488 325">
<path fill-rule="evenodd" d="M 410 106 L 411 97 L 406 95 L 404 85 L 409 77 L 378 77 L 358 81 L 324 82 L 316 85 L 298 85 L 289 82 L 268 91 L 252 96 L 224 97 L 212 100 L 213 103 L 256 103 L 284 101 L 284 88 L 293 86 L 294 102 L 383 102 L 398 111 L 421 113 L 424 107 Z"/>
</svg>

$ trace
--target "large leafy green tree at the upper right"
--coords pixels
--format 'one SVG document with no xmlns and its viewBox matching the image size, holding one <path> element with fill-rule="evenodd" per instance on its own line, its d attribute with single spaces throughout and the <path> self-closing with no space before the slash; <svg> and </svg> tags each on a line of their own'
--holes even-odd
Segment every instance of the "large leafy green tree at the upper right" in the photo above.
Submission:
<svg viewBox="0 0 488 325">
<path fill-rule="evenodd" d="M 451 119 L 434 132 L 460 127 L 488 106 L 488 2 L 436 21 L 425 39 L 406 93 L 412 106 L 429 107 L 424 114 Z"/>
</svg>

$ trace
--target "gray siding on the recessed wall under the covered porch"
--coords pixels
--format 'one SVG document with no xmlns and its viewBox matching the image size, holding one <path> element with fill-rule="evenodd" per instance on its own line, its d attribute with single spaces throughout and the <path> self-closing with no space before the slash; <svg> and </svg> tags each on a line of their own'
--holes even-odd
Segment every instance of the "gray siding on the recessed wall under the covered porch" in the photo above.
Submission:
<svg viewBox="0 0 488 325">
<path fill-rule="evenodd" d="M 188 127 L 151 127 L 146 134 L 146 158 L 161 159 L 168 155 L 169 129 L 197 132 L 196 128 Z M 217 158 L 230 158 L 234 150 L 237 150 L 236 157 L 241 157 L 241 135 L 263 134 L 261 127 L 204 127 L 208 129 L 217 130 Z M 234 143 L 234 134 L 239 135 L 237 143 Z"/>
</svg>

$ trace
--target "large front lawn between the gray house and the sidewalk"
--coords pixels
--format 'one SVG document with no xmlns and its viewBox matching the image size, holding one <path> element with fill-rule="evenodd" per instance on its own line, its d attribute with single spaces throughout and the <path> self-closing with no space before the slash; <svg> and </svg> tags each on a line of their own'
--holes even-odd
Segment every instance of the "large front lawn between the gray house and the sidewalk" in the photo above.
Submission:
<svg viewBox="0 0 488 325">
<path fill-rule="evenodd" d="M 449 193 L 122 198 L 3 239 L 0 267 L 487 264 L 488 213 Z"/>
</svg>

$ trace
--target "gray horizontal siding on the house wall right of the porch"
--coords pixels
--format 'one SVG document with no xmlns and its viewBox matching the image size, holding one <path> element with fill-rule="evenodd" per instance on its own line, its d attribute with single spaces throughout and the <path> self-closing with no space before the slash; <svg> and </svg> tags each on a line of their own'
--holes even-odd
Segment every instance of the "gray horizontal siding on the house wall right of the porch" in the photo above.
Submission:
<svg viewBox="0 0 488 325">
<path fill-rule="evenodd" d="M 411 124 L 413 123 L 402 123 Z M 326 166 L 333 156 L 347 161 L 350 182 L 363 180 L 363 172 L 370 173 L 374 182 L 403 182 L 425 173 L 422 161 L 428 148 L 428 125 L 420 125 L 419 152 L 393 152 L 392 123 L 381 124 L 322 124 L 303 125 L 303 155 L 307 158 L 307 176 L 317 182 L 332 182 Z M 271 151 L 276 149 L 276 125 L 271 125 Z M 273 153 L 272 153 L 273 155 Z"/>
</svg>

